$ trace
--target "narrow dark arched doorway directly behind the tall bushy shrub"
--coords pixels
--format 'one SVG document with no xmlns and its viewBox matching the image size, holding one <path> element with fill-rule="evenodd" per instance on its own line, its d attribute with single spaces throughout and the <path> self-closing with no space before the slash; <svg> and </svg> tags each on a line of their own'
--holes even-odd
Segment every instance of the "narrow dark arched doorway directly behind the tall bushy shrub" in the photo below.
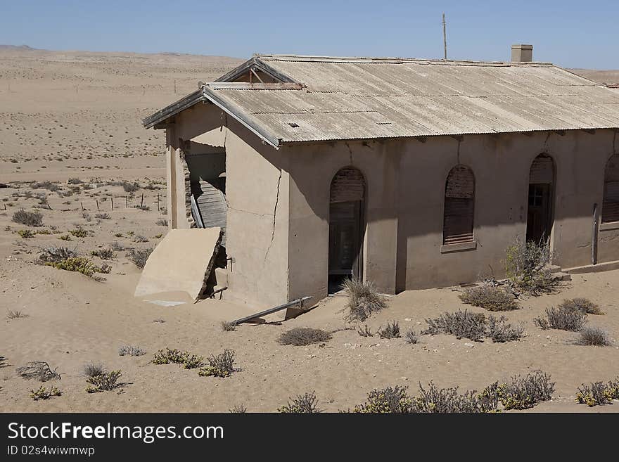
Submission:
<svg viewBox="0 0 619 462">
<path fill-rule="evenodd" d="M 549 239 L 554 206 L 554 162 L 547 155 L 538 155 L 529 174 L 527 240 L 536 243 Z"/>
</svg>

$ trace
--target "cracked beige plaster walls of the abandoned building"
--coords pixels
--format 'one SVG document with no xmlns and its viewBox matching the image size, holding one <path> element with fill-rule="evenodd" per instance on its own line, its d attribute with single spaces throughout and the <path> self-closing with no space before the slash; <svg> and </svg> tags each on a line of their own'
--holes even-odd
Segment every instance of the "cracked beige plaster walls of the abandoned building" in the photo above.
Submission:
<svg viewBox="0 0 619 462">
<path fill-rule="evenodd" d="M 556 264 L 591 264 L 593 207 L 601 207 L 613 142 L 619 148 L 613 131 L 597 130 L 299 143 L 276 150 L 212 105 L 181 115 L 174 136 L 191 139 L 192 152 L 194 143 L 225 148 L 226 252 L 234 261 L 224 296 L 257 307 L 326 296 L 329 189 L 333 175 L 349 165 L 366 179 L 363 275 L 385 293 L 472 282 L 491 271 L 504 276 L 506 247 L 526 233 L 529 170 L 542 153 L 556 169 Z M 476 248 L 447 252 L 457 248 L 442 246 L 445 180 L 458 164 L 476 178 Z M 177 175 L 182 178 L 180 167 Z M 183 227 L 179 181 L 176 189 L 176 227 Z M 601 226 L 599 262 L 619 260 L 618 228 Z"/>
</svg>

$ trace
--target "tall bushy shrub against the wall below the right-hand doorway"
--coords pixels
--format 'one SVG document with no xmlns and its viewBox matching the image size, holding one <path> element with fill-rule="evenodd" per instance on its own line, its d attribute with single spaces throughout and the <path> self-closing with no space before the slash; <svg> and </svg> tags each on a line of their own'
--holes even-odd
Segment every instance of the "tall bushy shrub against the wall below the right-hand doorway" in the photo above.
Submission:
<svg viewBox="0 0 619 462">
<path fill-rule="evenodd" d="M 551 273 L 550 240 L 535 243 L 516 238 L 506 250 L 505 270 L 511 283 L 530 295 L 552 292 L 559 280 Z"/>
</svg>

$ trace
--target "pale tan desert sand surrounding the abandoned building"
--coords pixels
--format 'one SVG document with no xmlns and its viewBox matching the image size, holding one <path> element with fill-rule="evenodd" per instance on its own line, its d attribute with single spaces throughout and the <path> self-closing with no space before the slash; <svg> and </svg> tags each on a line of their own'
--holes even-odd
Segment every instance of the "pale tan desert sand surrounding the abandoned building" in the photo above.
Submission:
<svg viewBox="0 0 619 462">
<path fill-rule="evenodd" d="M 229 332 L 222 331 L 221 321 L 254 308 L 215 299 L 193 304 L 181 294 L 133 297 L 140 269 L 127 252 L 152 248 L 167 232 L 162 221 L 163 133 L 144 130 L 141 117 L 189 93 L 198 80 L 214 79 L 240 62 L 0 49 L 0 183 L 8 186 L 0 188 L 0 357 L 6 358 L 0 366 L 0 411 L 226 412 L 243 404 L 250 412 L 272 412 L 289 397 L 311 391 L 321 409 L 338 411 L 364 402 L 375 387 L 404 385 L 416 394 L 419 382 L 433 380 L 440 387 L 480 390 L 535 369 L 551 374 L 556 391 L 550 402 L 532 411 L 619 411 L 618 402 L 594 408 L 574 403 L 581 383 L 619 373 L 619 271 L 576 275 L 559 293 L 523 299 L 522 308 L 506 316 L 511 323 L 523 323 L 527 335 L 502 344 L 449 335 L 421 335 L 416 345 L 403 338 L 363 338 L 355 324 L 343 319 L 345 295 L 328 297 L 296 319 L 272 315 L 267 323 L 243 324 Z M 82 183 L 68 184 L 69 179 Z M 136 191 L 125 191 L 122 181 L 136 181 Z M 43 226 L 11 222 L 20 208 L 39 210 Z M 18 233 L 23 229 L 47 231 L 23 238 Z M 70 233 L 77 229 L 86 236 Z M 96 281 L 35 264 L 39 252 L 52 245 L 75 249 L 96 265 L 105 262 L 110 272 L 98 274 L 102 280 Z M 117 249 L 112 259 L 91 256 L 112 245 Z M 396 320 L 402 332 L 419 332 L 426 318 L 445 311 L 484 312 L 464 305 L 460 290 L 388 297 L 388 308 L 367 324 L 376 331 Z M 589 315 L 589 325 L 608 331 L 612 346 L 575 345 L 576 333 L 535 326 L 535 316 L 570 297 L 587 297 L 601 306 L 606 314 Z M 184 303 L 163 307 L 149 298 Z M 10 311 L 25 317 L 5 318 Z M 334 331 L 333 339 L 307 347 L 279 345 L 281 333 L 300 326 Z M 137 345 L 146 354 L 121 357 L 122 345 Z M 177 364 L 151 364 L 153 354 L 165 347 L 204 357 L 233 349 L 241 370 L 222 379 L 200 377 L 196 369 Z M 29 361 L 58 368 L 62 380 L 44 385 L 56 385 L 62 396 L 30 399 L 30 390 L 41 384 L 15 373 Z M 85 392 L 82 368 L 90 362 L 120 369 L 125 385 Z"/>
</svg>

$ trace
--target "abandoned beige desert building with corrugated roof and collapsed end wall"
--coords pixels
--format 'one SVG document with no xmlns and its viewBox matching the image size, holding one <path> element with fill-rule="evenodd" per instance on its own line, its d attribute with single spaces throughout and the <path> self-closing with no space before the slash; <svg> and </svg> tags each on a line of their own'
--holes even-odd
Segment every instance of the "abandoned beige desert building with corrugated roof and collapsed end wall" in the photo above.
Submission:
<svg viewBox="0 0 619 462">
<path fill-rule="evenodd" d="M 224 228 L 223 297 L 259 307 L 499 278 L 518 236 L 563 271 L 619 267 L 619 93 L 512 51 L 257 55 L 200 83 L 143 120 L 170 227 Z"/>
</svg>

